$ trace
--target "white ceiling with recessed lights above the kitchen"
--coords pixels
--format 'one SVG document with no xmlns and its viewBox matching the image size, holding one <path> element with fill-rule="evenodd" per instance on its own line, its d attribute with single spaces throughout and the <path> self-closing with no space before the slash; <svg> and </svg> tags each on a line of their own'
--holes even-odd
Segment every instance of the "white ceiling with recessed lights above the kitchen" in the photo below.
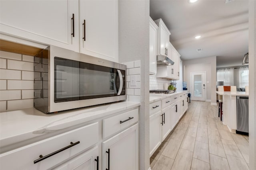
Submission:
<svg viewBox="0 0 256 170">
<path fill-rule="evenodd" d="M 182 60 L 217 56 L 217 67 L 239 66 L 248 52 L 247 0 L 150 0 L 150 17 L 162 18 Z"/>
</svg>

